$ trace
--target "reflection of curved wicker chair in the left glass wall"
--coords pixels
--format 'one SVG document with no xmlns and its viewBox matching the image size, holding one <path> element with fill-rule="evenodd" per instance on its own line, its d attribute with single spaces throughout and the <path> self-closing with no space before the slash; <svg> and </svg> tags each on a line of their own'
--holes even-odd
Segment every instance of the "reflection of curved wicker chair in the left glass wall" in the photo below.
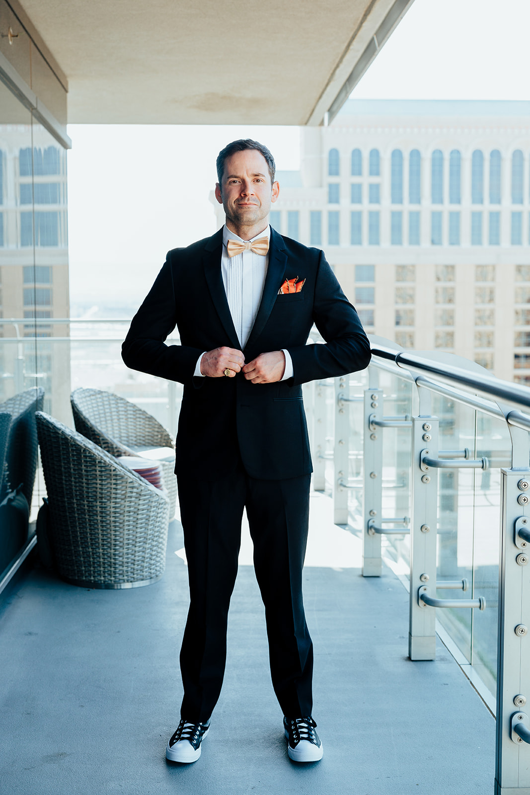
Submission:
<svg viewBox="0 0 530 795">
<path fill-rule="evenodd" d="M 3 466 L 0 501 L 22 484 L 22 494 L 31 506 L 33 484 L 37 471 L 37 428 L 35 412 L 41 411 L 44 390 L 41 386 L 19 392 L 0 403 L 0 412 L 11 415 L 7 439 L 6 461 Z"/>
</svg>

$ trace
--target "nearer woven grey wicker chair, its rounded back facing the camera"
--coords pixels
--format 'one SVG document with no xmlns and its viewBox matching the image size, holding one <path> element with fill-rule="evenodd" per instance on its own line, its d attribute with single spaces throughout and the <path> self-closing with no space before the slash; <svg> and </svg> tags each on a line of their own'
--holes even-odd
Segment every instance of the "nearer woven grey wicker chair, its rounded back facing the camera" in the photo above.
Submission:
<svg viewBox="0 0 530 795">
<path fill-rule="evenodd" d="M 168 495 L 85 436 L 37 412 L 48 502 L 37 545 L 67 582 L 135 588 L 164 573 Z"/>
</svg>

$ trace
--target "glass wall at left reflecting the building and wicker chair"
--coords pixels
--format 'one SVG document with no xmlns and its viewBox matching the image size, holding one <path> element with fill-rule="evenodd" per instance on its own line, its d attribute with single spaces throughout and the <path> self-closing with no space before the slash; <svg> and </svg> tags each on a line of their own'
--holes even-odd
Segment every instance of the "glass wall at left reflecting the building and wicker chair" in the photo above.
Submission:
<svg viewBox="0 0 530 795">
<path fill-rule="evenodd" d="M 72 424 L 67 223 L 66 150 L 0 83 L 0 579 L 44 495 L 35 410 Z"/>
</svg>

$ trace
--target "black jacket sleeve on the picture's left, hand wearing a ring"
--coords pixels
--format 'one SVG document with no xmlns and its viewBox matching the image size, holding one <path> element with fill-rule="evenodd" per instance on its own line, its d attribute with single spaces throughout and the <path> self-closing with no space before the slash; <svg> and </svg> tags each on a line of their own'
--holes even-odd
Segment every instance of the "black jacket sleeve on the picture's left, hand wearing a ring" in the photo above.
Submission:
<svg viewBox="0 0 530 795">
<path fill-rule="evenodd" d="M 186 345 L 165 344 L 165 339 L 175 327 L 175 289 L 168 253 L 122 344 L 122 359 L 126 366 L 182 384 L 191 385 L 194 380 L 202 380 L 194 379 L 193 373 L 203 351 Z"/>
</svg>

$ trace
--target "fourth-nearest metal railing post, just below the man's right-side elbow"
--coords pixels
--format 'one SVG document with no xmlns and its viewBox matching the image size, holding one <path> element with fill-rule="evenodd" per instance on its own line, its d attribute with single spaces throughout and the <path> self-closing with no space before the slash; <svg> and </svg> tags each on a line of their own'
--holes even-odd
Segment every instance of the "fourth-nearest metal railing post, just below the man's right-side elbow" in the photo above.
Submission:
<svg viewBox="0 0 530 795">
<path fill-rule="evenodd" d="M 335 525 L 348 524 L 348 475 L 350 438 L 350 376 L 335 378 L 335 435 L 333 460 L 335 480 L 333 487 L 333 521 Z M 342 400 L 342 398 L 346 398 Z"/>
</svg>

